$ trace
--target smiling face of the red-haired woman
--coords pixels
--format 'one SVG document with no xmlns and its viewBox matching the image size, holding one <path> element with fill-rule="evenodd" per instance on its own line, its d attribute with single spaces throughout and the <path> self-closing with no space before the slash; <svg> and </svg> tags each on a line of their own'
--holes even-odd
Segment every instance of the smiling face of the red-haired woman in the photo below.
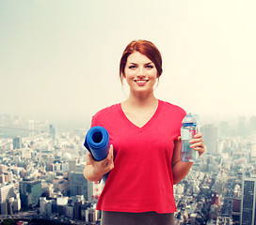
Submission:
<svg viewBox="0 0 256 225">
<path fill-rule="evenodd" d="M 133 52 L 127 58 L 124 78 L 133 92 L 152 92 L 158 78 L 157 69 L 146 55 Z"/>
</svg>

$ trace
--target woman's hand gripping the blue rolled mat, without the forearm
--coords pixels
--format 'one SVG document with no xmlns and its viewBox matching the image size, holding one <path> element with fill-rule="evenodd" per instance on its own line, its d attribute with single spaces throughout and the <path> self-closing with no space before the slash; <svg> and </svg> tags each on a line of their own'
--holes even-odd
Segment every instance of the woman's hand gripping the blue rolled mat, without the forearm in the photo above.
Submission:
<svg viewBox="0 0 256 225">
<path fill-rule="evenodd" d="M 91 165 L 93 170 L 91 171 L 92 176 L 103 177 L 105 173 L 110 172 L 114 168 L 114 157 L 113 157 L 113 145 L 109 147 L 108 155 L 101 161 L 96 161 L 92 158 L 92 155 L 88 152 L 87 166 Z"/>
</svg>

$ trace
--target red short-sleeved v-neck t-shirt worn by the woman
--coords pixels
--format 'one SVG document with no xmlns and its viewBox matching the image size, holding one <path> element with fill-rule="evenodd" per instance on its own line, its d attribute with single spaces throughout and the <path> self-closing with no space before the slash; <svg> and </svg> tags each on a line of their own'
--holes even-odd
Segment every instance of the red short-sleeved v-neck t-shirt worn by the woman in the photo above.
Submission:
<svg viewBox="0 0 256 225">
<path fill-rule="evenodd" d="M 114 169 L 109 173 L 97 204 L 98 210 L 173 213 L 171 159 L 185 112 L 159 100 L 156 112 L 142 128 L 112 105 L 92 117 L 91 127 L 109 132 L 114 147 Z"/>
</svg>

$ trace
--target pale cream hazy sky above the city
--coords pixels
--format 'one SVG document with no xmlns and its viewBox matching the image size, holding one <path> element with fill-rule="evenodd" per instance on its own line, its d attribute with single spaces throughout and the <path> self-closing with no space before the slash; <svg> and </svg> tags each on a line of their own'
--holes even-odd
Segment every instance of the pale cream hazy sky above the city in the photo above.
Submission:
<svg viewBox="0 0 256 225">
<path fill-rule="evenodd" d="M 256 115 L 254 0 L 0 0 L 0 114 L 84 127 L 129 95 L 134 39 L 163 57 L 156 98 L 208 117 Z"/>
</svg>

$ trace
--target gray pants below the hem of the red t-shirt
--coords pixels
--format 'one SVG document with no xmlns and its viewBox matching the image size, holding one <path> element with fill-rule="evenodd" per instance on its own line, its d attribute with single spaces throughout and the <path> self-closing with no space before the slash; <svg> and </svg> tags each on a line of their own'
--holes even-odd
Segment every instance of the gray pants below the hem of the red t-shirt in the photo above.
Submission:
<svg viewBox="0 0 256 225">
<path fill-rule="evenodd" d="M 102 212 L 101 225 L 174 225 L 174 213 L 158 214 L 146 213 L 122 213 Z"/>
</svg>

